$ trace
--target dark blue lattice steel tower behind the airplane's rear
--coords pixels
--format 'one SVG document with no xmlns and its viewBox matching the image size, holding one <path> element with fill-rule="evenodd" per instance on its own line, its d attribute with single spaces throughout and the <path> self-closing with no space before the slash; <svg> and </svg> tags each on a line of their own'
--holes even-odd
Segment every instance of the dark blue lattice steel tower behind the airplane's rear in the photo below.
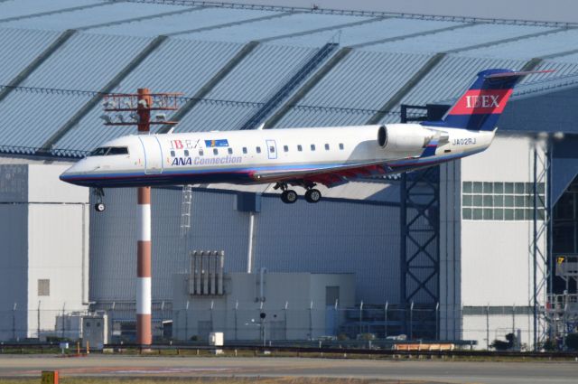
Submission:
<svg viewBox="0 0 578 384">
<path fill-rule="evenodd" d="M 425 111 L 410 117 L 408 109 Z M 436 120 L 447 106 L 401 106 L 401 122 Z M 412 115 L 413 116 L 413 115 Z M 440 167 L 403 173 L 400 188 L 400 297 L 405 312 L 401 331 L 410 338 L 439 334 Z"/>
</svg>

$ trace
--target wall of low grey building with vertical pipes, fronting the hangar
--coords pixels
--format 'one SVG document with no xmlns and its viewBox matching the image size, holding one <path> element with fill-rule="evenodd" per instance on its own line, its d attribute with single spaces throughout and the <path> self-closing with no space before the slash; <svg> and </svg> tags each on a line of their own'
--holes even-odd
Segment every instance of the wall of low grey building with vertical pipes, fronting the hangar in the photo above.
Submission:
<svg viewBox="0 0 578 384">
<path fill-rule="evenodd" d="M 264 301 L 259 299 L 259 274 L 227 274 L 223 296 L 189 295 L 187 278 L 173 278 L 172 329 L 178 340 L 205 339 L 208 332 L 224 332 L 226 340 L 260 340 L 262 326 L 266 340 L 314 339 L 327 334 L 327 322 L 335 316 L 326 307 L 327 286 L 339 286 L 340 306 L 355 304 L 351 274 L 265 274 Z"/>
</svg>

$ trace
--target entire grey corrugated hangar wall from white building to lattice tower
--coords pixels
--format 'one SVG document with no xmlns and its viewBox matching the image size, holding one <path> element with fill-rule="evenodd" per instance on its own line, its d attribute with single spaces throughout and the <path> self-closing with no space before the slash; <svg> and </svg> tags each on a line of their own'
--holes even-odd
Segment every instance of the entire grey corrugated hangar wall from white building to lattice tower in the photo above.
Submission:
<svg viewBox="0 0 578 384">
<path fill-rule="evenodd" d="M 192 194 L 191 230 L 180 235 L 182 192 L 153 190 L 153 298 L 171 299 L 172 274 L 189 269 L 188 250 L 224 249 L 225 269 L 247 267 L 249 213 L 236 194 Z M 90 300 L 135 297 L 136 203 L 133 190 L 107 190 L 107 211 L 91 213 Z M 298 201 L 288 206 L 263 197 L 256 213 L 254 268 L 271 272 L 356 273 L 365 303 L 398 299 L 398 208 L 355 202 Z"/>
</svg>

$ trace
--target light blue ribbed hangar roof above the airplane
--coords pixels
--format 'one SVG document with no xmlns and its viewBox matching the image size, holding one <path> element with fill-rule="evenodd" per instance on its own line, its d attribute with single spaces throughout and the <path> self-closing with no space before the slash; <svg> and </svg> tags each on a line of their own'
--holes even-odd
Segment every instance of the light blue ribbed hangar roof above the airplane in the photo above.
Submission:
<svg viewBox="0 0 578 384">
<path fill-rule="evenodd" d="M 398 121 L 401 104 L 451 101 L 485 68 L 555 69 L 524 80 L 500 125 L 543 131 L 561 128 L 529 116 L 578 83 L 570 23 L 188 0 L 12 0 L 0 14 L 4 153 L 77 157 L 130 133 L 101 126 L 98 92 L 183 92 L 177 131 L 330 126 Z"/>
</svg>

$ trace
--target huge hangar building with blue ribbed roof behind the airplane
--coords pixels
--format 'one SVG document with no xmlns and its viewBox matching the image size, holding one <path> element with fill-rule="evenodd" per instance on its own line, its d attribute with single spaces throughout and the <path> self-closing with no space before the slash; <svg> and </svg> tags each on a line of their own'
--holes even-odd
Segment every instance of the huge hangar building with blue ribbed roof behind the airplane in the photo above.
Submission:
<svg viewBox="0 0 578 384">
<path fill-rule="evenodd" d="M 61 211 L 76 192 L 62 192 L 61 205 L 51 206 L 49 231 L 31 214 L 49 188 L 21 198 L 6 175 L 14 164 L 26 164 L 23 173 L 38 164 L 48 175 L 54 164 L 131 134 L 102 126 L 107 93 L 183 92 L 169 117 L 180 121 L 176 132 L 387 124 L 424 116 L 404 106 L 451 104 L 479 70 L 555 70 L 523 80 L 487 152 L 439 169 L 323 190 L 317 205 L 286 206 L 269 186 L 195 185 L 190 204 L 179 188 L 153 191 L 159 327 L 183 310 L 174 306 L 172 281 L 191 272 L 192 249 L 224 250 L 225 271 L 234 274 L 247 272 L 250 243 L 251 272 L 354 274 L 355 304 L 342 308 L 350 314 L 336 331 L 350 337 L 406 333 L 485 348 L 519 330 L 530 347 L 545 340 L 546 287 L 558 284 L 547 266 L 555 253 L 578 253 L 578 216 L 568 211 L 577 169 L 575 25 L 195 1 L 23 0 L 0 9 L 0 238 L 8 244 L 78 241 Z M 42 183 L 36 177 L 28 183 Z M 86 197 L 73 201 L 87 211 Z M 90 210 L 82 221 L 88 297 L 75 298 L 76 308 L 61 297 L 50 309 L 107 311 L 120 336 L 135 313 L 135 192 L 107 191 L 106 202 L 105 213 Z M 15 232 L 7 230 L 14 204 L 27 217 Z M 185 211 L 190 228 L 182 228 Z M 41 310 L 30 291 L 41 277 L 33 264 L 12 264 L 37 256 L 30 247 L 6 249 L 2 262 L 12 267 L 2 273 L 18 270 L 29 298 L 3 291 L 3 337 L 38 337 L 55 327 L 33 315 Z M 65 256 L 77 276 L 85 273 L 79 248 L 44 251 L 42 258 Z M 68 280 L 64 269 L 45 275 Z M 70 289 L 81 290 L 81 280 Z M 315 310 L 333 304 L 321 301 Z M 19 311 L 28 321 L 15 326 Z"/>
</svg>

